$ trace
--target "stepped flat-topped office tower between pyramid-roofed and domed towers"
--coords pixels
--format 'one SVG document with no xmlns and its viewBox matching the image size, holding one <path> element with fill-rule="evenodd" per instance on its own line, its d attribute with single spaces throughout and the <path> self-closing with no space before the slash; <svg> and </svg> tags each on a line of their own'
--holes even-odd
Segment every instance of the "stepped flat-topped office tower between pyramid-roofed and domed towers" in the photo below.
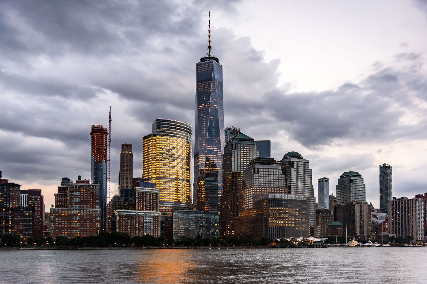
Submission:
<svg viewBox="0 0 427 284">
<path fill-rule="evenodd" d="M 255 201 L 265 194 L 286 194 L 285 176 L 280 164 L 273 158 L 257 157 L 243 172 L 244 187 L 239 193 L 239 220 L 235 223 L 236 235 L 252 235 Z M 307 235 L 308 231 L 305 232 Z"/>
</svg>

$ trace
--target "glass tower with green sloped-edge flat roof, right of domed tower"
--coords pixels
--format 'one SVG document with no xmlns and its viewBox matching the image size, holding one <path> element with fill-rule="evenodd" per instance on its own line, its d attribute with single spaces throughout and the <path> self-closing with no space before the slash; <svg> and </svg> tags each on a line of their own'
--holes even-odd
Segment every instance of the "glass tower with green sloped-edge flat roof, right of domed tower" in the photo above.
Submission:
<svg viewBox="0 0 427 284">
<path fill-rule="evenodd" d="M 336 185 L 336 203 L 365 202 L 365 191 L 366 186 L 362 175 L 357 171 L 346 171 L 339 176 L 338 185 Z"/>
</svg>

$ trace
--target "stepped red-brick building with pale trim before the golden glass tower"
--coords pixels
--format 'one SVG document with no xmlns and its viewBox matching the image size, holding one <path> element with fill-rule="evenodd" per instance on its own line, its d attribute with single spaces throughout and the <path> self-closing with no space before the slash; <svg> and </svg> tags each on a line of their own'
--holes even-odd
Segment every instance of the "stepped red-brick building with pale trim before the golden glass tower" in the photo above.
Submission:
<svg viewBox="0 0 427 284">
<path fill-rule="evenodd" d="M 135 236 L 160 236 L 159 193 L 155 183 L 140 182 L 134 189 L 135 210 L 117 209 L 116 231 Z"/>
</svg>

